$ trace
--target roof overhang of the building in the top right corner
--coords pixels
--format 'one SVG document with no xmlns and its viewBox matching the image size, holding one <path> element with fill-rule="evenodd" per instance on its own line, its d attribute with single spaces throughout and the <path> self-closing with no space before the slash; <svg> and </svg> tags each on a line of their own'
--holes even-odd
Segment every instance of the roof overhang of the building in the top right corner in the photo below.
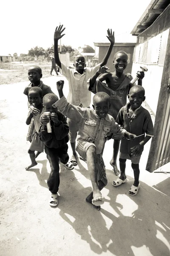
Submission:
<svg viewBox="0 0 170 256">
<path fill-rule="evenodd" d="M 139 35 L 145 29 L 151 26 L 169 4 L 170 0 L 152 0 L 147 6 L 147 9 L 138 20 L 138 22 L 136 23 L 136 25 L 134 26 L 131 34 Z"/>
</svg>

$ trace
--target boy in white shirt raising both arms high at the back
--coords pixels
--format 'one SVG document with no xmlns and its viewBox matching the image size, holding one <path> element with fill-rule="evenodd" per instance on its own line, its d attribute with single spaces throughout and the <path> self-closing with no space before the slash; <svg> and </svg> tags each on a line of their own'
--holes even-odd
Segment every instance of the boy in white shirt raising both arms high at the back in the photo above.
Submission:
<svg viewBox="0 0 170 256">
<path fill-rule="evenodd" d="M 80 104 L 84 108 L 88 108 L 91 104 L 91 93 L 88 91 L 87 88 L 87 80 L 93 76 L 96 71 L 99 69 L 100 66 L 103 66 L 107 63 L 108 58 L 111 54 L 113 45 L 114 45 L 114 32 L 112 34 L 112 30 L 108 29 L 108 40 L 111 42 L 108 52 L 105 55 L 105 58 L 102 60 L 100 64 L 96 67 L 86 67 L 85 58 L 82 55 L 77 55 L 74 62 L 75 69 L 70 69 L 66 67 L 63 63 L 59 60 L 58 54 L 58 40 L 62 38 L 65 34 L 61 35 L 62 32 L 65 30 L 62 29 L 63 25 L 59 25 L 56 28 L 54 33 L 54 58 L 56 64 L 62 69 L 62 74 L 68 79 L 69 85 L 69 93 L 68 93 L 68 102 L 75 106 L 79 106 Z M 67 119 L 69 125 L 69 140 L 71 143 L 71 148 L 73 151 L 73 155 L 71 157 L 71 163 L 76 166 L 77 165 L 77 153 L 76 153 L 76 138 L 77 132 L 79 131 L 77 123 L 74 120 Z"/>
</svg>

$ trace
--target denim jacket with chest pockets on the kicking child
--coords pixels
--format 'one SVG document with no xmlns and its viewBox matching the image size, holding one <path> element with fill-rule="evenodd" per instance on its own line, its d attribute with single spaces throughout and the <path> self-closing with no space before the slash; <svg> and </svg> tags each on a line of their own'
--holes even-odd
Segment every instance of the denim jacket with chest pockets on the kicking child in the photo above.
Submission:
<svg viewBox="0 0 170 256">
<path fill-rule="evenodd" d="M 125 129 L 118 125 L 114 118 L 108 114 L 105 118 L 99 118 L 93 109 L 74 106 L 65 99 L 65 96 L 52 106 L 58 108 L 65 116 L 79 125 L 77 143 L 79 143 L 79 140 L 94 143 L 96 154 L 101 154 L 107 134 L 121 133 L 124 137 Z"/>
</svg>

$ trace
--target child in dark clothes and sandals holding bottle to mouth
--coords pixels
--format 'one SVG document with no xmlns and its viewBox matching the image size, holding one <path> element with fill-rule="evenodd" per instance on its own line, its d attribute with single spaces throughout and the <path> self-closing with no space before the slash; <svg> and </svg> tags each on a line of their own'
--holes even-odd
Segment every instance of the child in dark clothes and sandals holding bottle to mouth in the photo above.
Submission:
<svg viewBox="0 0 170 256">
<path fill-rule="evenodd" d="M 43 97 L 45 112 L 50 112 L 51 117 L 45 113 L 40 117 L 40 140 L 45 145 L 45 153 L 51 166 L 51 173 L 47 180 L 48 188 L 51 191 L 50 206 L 56 207 L 58 204 L 59 189 L 59 160 L 67 169 L 74 169 L 74 166 L 68 163 L 68 123 L 65 116 L 53 108 L 52 105 L 58 101 L 57 95 L 48 93 Z M 51 122 L 52 133 L 47 131 L 47 123 Z"/>
</svg>

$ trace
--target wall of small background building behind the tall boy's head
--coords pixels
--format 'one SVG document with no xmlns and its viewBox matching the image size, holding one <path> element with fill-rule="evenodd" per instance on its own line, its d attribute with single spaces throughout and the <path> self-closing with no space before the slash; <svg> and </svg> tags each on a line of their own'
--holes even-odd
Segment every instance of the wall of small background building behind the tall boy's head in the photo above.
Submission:
<svg viewBox="0 0 170 256">
<path fill-rule="evenodd" d="M 99 46 L 99 63 L 105 57 L 105 54 L 108 50 L 108 46 Z M 126 73 L 131 73 L 132 71 L 132 57 L 133 57 L 133 50 L 134 46 L 113 46 L 110 58 L 108 59 L 107 67 L 110 68 L 111 72 L 114 72 L 114 65 L 113 65 L 113 57 L 116 52 L 124 51 L 130 54 L 130 63 L 127 64 Z"/>
</svg>

